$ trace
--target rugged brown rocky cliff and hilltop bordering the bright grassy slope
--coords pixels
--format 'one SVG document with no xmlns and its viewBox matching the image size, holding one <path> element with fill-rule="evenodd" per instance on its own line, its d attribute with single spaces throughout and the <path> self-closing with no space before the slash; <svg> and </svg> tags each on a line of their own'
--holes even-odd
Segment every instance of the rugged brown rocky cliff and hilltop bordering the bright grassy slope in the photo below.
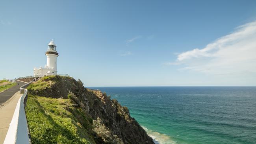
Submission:
<svg viewBox="0 0 256 144">
<path fill-rule="evenodd" d="M 38 84 L 41 83 L 41 84 Z M 100 90 L 83 87 L 70 77 L 49 76 L 28 87 L 31 94 L 52 98 L 70 98 L 93 118 L 95 141 L 105 144 L 154 144 L 146 131 L 130 116 L 127 107 Z"/>
</svg>

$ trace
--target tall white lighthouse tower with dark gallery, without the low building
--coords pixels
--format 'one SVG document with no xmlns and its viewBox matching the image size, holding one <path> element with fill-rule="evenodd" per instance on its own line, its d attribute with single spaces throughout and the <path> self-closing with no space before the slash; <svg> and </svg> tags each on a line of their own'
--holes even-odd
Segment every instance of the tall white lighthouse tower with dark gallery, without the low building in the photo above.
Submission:
<svg viewBox="0 0 256 144">
<path fill-rule="evenodd" d="M 56 44 L 54 44 L 53 40 L 48 44 L 48 50 L 45 52 L 47 57 L 47 68 L 52 69 L 52 74 L 57 74 L 57 57 L 59 56 L 56 51 Z"/>
</svg>

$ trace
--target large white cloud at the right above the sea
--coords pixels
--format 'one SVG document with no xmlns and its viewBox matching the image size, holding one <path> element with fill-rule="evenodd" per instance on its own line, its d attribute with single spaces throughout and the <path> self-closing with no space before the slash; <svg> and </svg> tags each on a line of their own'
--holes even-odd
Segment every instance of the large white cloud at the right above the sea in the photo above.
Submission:
<svg viewBox="0 0 256 144">
<path fill-rule="evenodd" d="M 256 72 L 256 22 L 239 26 L 233 33 L 206 45 L 178 54 L 170 65 L 205 74 L 254 74 Z"/>
</svg>

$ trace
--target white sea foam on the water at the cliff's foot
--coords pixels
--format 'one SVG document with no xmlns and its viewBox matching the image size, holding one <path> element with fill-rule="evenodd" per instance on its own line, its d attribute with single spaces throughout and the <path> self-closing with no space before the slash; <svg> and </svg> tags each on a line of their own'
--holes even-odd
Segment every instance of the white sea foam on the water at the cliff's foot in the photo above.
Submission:
<svg viewBox="0 0 256 144">
<path fill-rule="evenodd" d="M 142 126 L 142 128 L 145 129 L 145 131 L 147 131 L 147 134 L 153 138 L 156 144 L 176 144 L 176 142 L 171 140 L 171 137 L 169 137 L 168 135 L 152 131 L 147 127 Z"/>
</svg>

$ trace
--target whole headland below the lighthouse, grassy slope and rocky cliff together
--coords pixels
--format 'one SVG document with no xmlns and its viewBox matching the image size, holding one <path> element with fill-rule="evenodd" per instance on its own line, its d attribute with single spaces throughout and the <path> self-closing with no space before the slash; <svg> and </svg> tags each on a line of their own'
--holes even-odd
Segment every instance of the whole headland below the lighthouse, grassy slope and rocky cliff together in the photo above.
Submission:
<svg viewBox="0 0 256 144">
<path fill-rule="evenodd" d="M 154 144 L 127 107 L 80 80 L 47 76 L 27 89 L 33 143 Z"/>
</svg>

